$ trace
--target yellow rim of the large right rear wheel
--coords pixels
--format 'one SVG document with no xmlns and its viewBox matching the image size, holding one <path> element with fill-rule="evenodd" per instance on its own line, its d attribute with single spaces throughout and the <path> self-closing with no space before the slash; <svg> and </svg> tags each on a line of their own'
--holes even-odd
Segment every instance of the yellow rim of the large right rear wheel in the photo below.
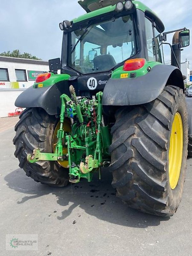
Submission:
<svg viewBox="0 0 192 256">
<path fill-rule="evenodd" d="M 177 187 L 183 155 L 183 125 L 179 113 L 176 113 L 171 130 L 170 148 L 169 148 L 169 182 L 170 187 Z"/>
</svg>

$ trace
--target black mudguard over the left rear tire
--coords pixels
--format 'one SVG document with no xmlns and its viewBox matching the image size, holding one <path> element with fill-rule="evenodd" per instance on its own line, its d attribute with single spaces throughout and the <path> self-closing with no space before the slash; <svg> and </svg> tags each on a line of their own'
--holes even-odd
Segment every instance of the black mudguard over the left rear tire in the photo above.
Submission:
<svg viewBox="0 0 192 256">
<path fill-rule="evenodd" d="M 22 92 L 15 101 L 16 107 L 43 108 L 49 115 L 60 114 L 63 93 L 70 96 L 68 81 L 61 81 L 52 86 L 34 88 L 33 86 Z"/>
</svg>

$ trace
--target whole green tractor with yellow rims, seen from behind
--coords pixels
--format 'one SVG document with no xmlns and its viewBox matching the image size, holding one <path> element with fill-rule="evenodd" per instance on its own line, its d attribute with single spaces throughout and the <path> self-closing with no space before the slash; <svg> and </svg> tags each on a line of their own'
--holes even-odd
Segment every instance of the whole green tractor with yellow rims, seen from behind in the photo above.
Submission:
<svg viewBox="0 0 192 256">
<path fill-rule="evenodd" d="M 26 108 L 13 139 L 19 166 L 56 187 L 112 172 L 117 196 L 130 207 L 172 216 L 188 154 L 180 52 L 189 30 L 164 32 L 139 1 L 78 3 L 87 13 L 59 24 L 61 61 L 49 60 L 49 73 L 15 102 Z M 172 65 L 164 65 L 162 45 L 173 32 Z"/>
</svg>

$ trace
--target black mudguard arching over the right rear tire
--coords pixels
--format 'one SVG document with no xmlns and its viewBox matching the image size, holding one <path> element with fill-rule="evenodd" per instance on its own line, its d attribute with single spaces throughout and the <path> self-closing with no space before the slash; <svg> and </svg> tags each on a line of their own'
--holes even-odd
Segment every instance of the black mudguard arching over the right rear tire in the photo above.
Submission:
<svg viewBox="0 0 192 256">
<path fill-rule="evenodd" d="M 183 76 L 179 68 L 156 65 L 144 76 L 110 78 L 103 91 L 103 106 L 131 106 L 148 103 L 161 94 L 166 84 L 178 86 L 184 90 Z"/>
</svg>

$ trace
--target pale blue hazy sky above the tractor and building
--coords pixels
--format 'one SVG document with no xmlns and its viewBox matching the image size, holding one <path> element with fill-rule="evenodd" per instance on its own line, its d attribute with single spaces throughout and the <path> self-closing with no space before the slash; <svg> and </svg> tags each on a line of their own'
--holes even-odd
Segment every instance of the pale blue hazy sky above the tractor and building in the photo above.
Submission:
<svg viewBox="0 0 192 256">
<path fill-rule="evenodd" d="M 61 55 L 62 31 L 59 22 L 85 13 L 77 0 L 0 0 L 0 52 L 19 49 L 42 60 Z M 164 22 L 165 30 L 188 28 L 192 39 L 191 0 L 140 0 Z M 173 35 L 172 35 L 173 36 Z M 168 42 L 172 43 L 172 36 Z M 170 50 L 165 46 L 165 61 Z M 181 53 L 191 63 L 192 41 Z"/>
</svg>

